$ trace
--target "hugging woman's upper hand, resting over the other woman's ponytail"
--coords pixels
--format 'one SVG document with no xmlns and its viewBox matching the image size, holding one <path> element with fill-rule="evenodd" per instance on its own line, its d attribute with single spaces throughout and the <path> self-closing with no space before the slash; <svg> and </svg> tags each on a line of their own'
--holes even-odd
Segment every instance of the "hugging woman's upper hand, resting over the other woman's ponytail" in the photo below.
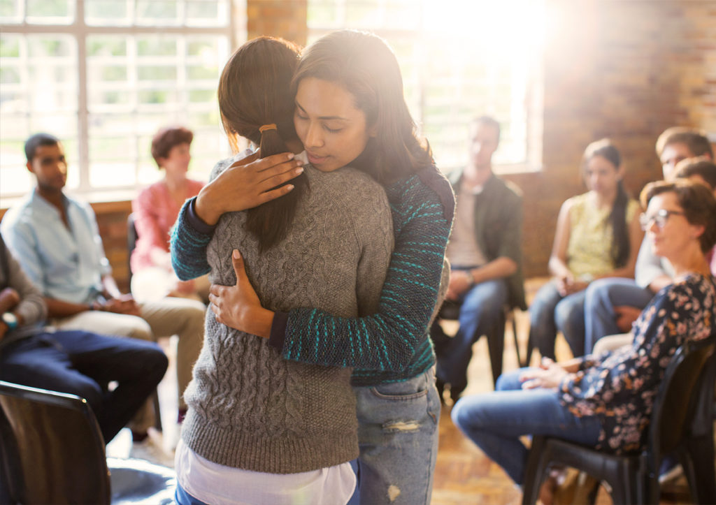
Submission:
<svg viewBox="0 0 716 505">
<path fill-rule="evenodd" d="M 242 158 L 205 185 L 196 197 L 196 213 L 206 224 L 216 225 L 226 212 L 258 207 L 294 189 L 284 184 L 304 171 L 291 152 L 258 158 L 258 152 Z M 278 187 L 281 186 L 281 187 Z"/>
</svg>

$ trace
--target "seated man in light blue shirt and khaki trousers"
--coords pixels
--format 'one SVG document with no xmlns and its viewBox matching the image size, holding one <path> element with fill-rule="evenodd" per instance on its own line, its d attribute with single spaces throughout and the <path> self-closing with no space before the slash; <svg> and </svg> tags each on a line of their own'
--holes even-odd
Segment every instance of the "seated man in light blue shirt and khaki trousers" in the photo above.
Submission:
<svg viewBox="0 0 716 505">
<path fill-rule="evenodd" d="M 62 143 L 52 135 L 35 134 L 27 139 L 25 154 L 37 187 L 6 213 L 0 231 L 46 297 L 52 324 L 142 340 L 178 335 L 181 421 L 186 409 L 182 394 L 203 343 L 204 305 L 185 298 L 140 304 L 120 293 L 92 207 L 63 192 L 67 160 Z M 152 416 L 147 413 L 140 424 L 151 426 Z"/>
</svg>

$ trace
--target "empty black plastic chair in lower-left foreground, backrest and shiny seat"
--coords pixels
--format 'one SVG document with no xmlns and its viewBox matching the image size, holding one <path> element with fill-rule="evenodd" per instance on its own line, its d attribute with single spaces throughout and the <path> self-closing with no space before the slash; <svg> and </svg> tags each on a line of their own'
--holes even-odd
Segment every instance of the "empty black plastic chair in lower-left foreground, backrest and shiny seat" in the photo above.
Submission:
<svg viewBox="0 0 716 505">
<path fill-rule="evenodd" d="M 0 381 L 0 502 L 170 504 L 175 486 L 172 469 L 107 460 L 79 396 Z"/>
</svg>

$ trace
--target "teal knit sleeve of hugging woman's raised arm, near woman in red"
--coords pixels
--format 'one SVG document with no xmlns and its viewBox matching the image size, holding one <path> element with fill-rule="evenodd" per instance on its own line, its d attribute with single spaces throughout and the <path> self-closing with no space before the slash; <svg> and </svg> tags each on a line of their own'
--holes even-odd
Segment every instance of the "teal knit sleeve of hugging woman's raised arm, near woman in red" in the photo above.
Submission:
<svg viewBox="0 0 716 505">
<path fill-rule="evenodd" d="M 196 197 L 187 200 L 177 217 L 170 240 L 172 267 L 180 280 L 190 280 L 209 273 L 206 248 L 216 226 L 207 225 L 194 210 Z"/>
</svg>

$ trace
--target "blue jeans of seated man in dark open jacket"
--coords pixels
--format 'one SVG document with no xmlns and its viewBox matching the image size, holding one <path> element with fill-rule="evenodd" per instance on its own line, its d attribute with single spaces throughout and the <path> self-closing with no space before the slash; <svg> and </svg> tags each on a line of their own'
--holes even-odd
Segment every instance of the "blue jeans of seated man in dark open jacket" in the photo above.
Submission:
<svg viewBox="0 0 716 505">
<path fill-rule="evenodd" d="M 473 357 L 473 343 L 488 333 L 500 319 L 507 303 L 507 283 L 503 279 L 475 284 L 458 303 L 460 328 L 437 353 L 437 376 L 450 383 L 450 391 L 462 391 L 468 385 L 468 365 Z M 446 301 L 445 303 L 450 303 Z"/>
</svg>

